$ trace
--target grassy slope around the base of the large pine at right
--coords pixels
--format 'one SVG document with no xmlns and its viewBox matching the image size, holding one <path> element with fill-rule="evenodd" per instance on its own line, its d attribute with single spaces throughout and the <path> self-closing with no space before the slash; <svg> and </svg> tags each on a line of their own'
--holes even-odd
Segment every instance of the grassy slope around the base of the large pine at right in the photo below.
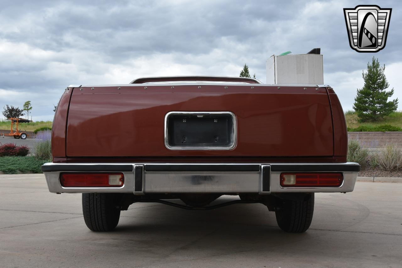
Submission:
<svg viewBox="0 0 402 268">
<path fill-rule="evenodd" d="M 402 128 L 402 111 L 392 112 L 390 115 L 384 117 L 382 120 L 375 122 L 360 123 L 358 121 L 359 118 L 357 117 L 357 114 L 353 111 L 346 111 L 345 118 L 346 118 L 346 125 L 348 128 L 359 128 L 359 127 L 376 128 L 381 125 L 390 125 Z"/>
</svg>

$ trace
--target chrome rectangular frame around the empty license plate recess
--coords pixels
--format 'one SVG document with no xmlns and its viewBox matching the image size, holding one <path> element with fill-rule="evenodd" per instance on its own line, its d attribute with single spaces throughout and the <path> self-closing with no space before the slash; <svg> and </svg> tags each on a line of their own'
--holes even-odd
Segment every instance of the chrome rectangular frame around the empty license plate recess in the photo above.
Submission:
<svg viewBox="0 0 402 268">
<path fill-rule="evenodd" d="M 196 114 L 196 115 L 210 115 L 210 114 L 228 114 L 232 116 L 233 119 L 233 142 L 230 146 L 170 146 L 168 140 L 168 117 L 172 114 Z M 164 124 L 164 132 L 165 132 L 165 147 L 169 150 L 233 150 L 237 146 L 237 118 L 236 115 L 230 111 L 220 111 L 220 112 L 192 112 L 192 111 L 171 111 L 166 113 L 165 115 L 165 124 Z"/>
</svg>

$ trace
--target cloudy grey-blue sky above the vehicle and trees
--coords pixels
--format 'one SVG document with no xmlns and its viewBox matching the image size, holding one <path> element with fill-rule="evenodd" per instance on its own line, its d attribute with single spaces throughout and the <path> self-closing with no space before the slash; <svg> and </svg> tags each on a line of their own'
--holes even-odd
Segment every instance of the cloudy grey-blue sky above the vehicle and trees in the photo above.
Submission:
<svg viewBox="0 0 402 268">
<path fill-rule="evenodd" d="M 31 100 L 33 120 L 52 120 L 70 84 L 128 83 L 143 76 L 238 76 L 244 63 L 266 82 L 265 62 L 288 50 L 324 55 L 324 83 L 352 108 L 373 56 L 402 109 L 402 2 L 385 49 L 349 46 L 343 8 L 356 1 L 0 0 L 0 107 Z M 372 4 L 372 3 L 371 3 Z"/>
</svg>

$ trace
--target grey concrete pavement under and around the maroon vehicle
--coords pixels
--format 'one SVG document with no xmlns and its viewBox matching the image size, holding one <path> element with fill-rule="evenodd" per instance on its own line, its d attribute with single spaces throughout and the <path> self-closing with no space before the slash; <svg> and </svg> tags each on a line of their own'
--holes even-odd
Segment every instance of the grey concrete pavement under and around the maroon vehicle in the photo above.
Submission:
<svg viewBox="0 0 402 268">
<path fill-rule="evenodd" d="M 156 203 L 133 204 L 115 231 L 94 233 L 80 194 L 49 193 L 43 174 L 0 175 L 0 242 L 1 267 L 401 267 L 402 183 L 316 194 L 302 234 L 281 231 L 262 204 Z"/>
</svg>

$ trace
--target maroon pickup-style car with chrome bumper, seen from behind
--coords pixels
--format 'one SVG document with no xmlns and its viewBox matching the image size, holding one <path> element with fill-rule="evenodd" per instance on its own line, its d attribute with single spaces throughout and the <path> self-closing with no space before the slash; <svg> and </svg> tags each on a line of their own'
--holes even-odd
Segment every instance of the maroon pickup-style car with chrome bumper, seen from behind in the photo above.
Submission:
<svg viewBox="0 0 402 268">
<path fill-rule="evenodd" d="M 261 203 L 287 232 L 310 226 L 315 192 L 351 192 L 347 130 L 326 85 L 243 77 L 139 78 L 70 85 L 55 113 L 49 191 L 82 193 L 92 231 L 135 202 L 186 209 Z M 213 202 L 222 195 L 239 196 Z M 185 205 L 169 200 L 180 199 Z"/>
</svg>

